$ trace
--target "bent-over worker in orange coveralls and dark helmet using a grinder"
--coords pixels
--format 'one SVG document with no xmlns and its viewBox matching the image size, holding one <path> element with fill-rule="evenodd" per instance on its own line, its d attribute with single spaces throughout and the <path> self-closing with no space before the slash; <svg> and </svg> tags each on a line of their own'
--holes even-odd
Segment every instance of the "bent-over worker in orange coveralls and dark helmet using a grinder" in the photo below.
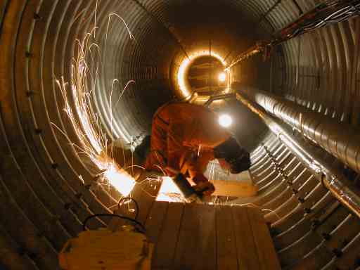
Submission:
<svg viewBox="0 0 360 270">
<path fill-rule="evenodd" d="M 249 153 L 219 125 L 217 115 L 209 108 L 168 103 L 158 109 L 153 116 L 146 169 L 165 171 L 169 176 L 181 172 L 196 191 L 210 195 L 214 186 L 203 173 L 215 158 L 232 174 L 250 167 Z"/>
</svg>

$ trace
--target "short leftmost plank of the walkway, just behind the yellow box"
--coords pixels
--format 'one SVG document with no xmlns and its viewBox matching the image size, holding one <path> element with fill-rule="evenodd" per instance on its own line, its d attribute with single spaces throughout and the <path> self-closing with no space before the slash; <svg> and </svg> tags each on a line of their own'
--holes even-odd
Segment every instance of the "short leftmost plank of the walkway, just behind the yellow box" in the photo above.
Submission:
<svg viewBox="0 0 360 270">
<path fill-rule="evenodd" d="M 153 207 L 150 210 L 148 219 L 146 219 L 146 235 L 153 243 L 156 243 L 162 227 L 162 221 L 165 219 L 167 213 L 167 202 L 154 202 Z"/>
</svg>

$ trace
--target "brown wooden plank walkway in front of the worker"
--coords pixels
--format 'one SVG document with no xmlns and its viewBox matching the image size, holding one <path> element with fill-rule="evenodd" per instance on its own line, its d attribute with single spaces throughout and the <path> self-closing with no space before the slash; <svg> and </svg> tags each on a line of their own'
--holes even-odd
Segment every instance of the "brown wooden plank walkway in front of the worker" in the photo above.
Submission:
<svg viewBox="0 0 360 270">
<path fill-rule="evenodd" d="M 251 207 L 155 201 L 146 216 L 152 269 L 281 269 L 264 218 Z"/>
</svg>

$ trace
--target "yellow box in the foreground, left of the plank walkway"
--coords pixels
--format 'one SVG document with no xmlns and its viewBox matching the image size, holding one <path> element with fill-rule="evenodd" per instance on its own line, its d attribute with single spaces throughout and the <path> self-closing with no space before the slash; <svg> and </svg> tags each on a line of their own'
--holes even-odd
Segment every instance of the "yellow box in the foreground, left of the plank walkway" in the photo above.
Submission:
<svg viewBox="0 0 360 270">
<path fill-rule="evenodd" d="M 64 270 L 149 270 L 153 244 L 132 231 L 84 231 L 59 254 Z"/>
</svg>

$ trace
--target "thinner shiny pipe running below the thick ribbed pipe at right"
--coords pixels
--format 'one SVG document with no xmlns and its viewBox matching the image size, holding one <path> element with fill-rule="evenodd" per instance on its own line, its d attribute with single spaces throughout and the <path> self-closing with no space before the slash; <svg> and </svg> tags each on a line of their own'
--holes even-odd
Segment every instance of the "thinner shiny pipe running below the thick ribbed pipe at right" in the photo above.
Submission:
<svg viewBox="0 0 360 270">
<path fill-rule="evenodd" d="M 314 176 L 321 181 L 333 196 L 345 207 L 360 217 L 360 191 L 337 169 L 326 160 L 310 150 L 305 143 L 291 135 L 288 128 L 283 127 L 274 117 L 245 94 L 236 94 L 236 99 L 247 106 L 253 113 L 259 115 L 269 129 L 278 136 L 278 139 L 307 167 Z"/>
</svg>

